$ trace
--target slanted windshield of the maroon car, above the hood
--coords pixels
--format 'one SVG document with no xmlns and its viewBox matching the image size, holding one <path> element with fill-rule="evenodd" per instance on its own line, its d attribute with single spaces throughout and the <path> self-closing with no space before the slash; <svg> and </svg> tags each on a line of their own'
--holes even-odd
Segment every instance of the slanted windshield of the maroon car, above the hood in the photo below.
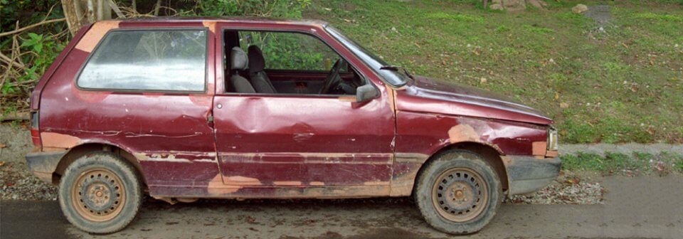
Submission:
<svg viewBox="0 0 683 239">
<path fill-rule="evenodd" d="M 383 66 L 389 65 L 386 63 L 386 61 L 382 60 L 382 58 L 379 58 L 377 55 L 374 53 L 371 53 L 368 51 L 366 48 L 363 48 L 360 46 L 358 43 L 355 41 L 351 40 L 350 38 L 347 38 L 342 34 L 337 28 L 334 28 L 333 26 L 325 26 L 325 29 L 334 36 L 334 38 L 337 38 L 338 41 L 342 42 L 344 46 L 349 48 L 351 52 L 353 52 L 356 56 L 361 58 L 372 70 L 374 70 L 376 73 L 381 75 L 382 78 L 384 78 L 384 81 L 388 83 L 389 85 L 393 85 L 395 87 L 401 87 L 403 85 L 406 85 L 408 80 L 410 78 L 408 75 L 403 73 L 403 71 L 398 71 L 398 70 L 391 70 L 391 69 L 381 69 Z"/>
</svg>

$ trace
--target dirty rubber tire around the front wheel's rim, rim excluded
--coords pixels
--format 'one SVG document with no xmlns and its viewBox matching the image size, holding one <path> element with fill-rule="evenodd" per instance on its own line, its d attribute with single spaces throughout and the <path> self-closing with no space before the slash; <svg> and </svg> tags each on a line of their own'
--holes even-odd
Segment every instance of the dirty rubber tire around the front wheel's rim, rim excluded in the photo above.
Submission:
<svg viewBox="0 0 683 239">
<path fill-rule="evenodd" d="M 437 177 L 453 167 L 472 167 L 486 181 L 489 191 L 489 200 L 479 216 L 471 221 L 456 223 L 448 221 L 438 213 L 432 203 L 432 187 Z M 467 235 L 476 233 L 485 227 L 496 215 L 502 203 L 502 186 L 499 176 L 485 159 L 473 152 L 452 149 L 435 155 L 425 167 L 420 170 L 413 188 L 413 198 L 422 213 L 425 221 L 433 228 L 454 235 Z"/>
</svg>

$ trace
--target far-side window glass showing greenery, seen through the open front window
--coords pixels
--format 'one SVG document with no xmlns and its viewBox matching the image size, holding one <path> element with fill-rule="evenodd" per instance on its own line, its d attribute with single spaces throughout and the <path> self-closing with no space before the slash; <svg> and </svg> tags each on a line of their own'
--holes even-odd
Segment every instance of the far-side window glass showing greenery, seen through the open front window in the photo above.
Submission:
<svg viewBox="0 0 683 239">
<path fill-rule="evenodd" d="M 330 70 L 339 59 L 322 41 L 302 33 L 240 31 L 240 47 L 245 52 L 258 46 L 265 68 L 274 70 Z"/>
</svg>

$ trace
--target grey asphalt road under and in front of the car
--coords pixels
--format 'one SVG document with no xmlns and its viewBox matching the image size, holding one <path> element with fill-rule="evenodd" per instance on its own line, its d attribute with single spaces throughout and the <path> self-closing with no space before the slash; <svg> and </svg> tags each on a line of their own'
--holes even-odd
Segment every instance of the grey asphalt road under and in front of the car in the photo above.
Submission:
<svg viewBox="0 0 683 239">
<path fill-rule="evenodd" d="M 683 178 L 608 177 L 603 205 L 509 205 L 461 238 L 683 238 Z M 408 198 L 149 201 L 125 230 L 83 233 L 56 201 L 1 201 L 0 238 L 451 238 Z"/>
</svg>

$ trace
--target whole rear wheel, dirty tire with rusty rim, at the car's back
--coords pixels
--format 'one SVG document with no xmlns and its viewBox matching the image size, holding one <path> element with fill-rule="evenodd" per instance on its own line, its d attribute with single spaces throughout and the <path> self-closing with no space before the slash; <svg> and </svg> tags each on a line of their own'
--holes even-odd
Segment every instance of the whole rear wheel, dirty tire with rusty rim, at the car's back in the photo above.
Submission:
<svg viewBox="0 0 683 239">
<path fill-rule="evenodd" d="M 110 152 L 92 152 L 66 168 L 59 184 L 59 205 L 66 219 L 80 230 L 114 233 L 137 215 L 142 185 L 125 159 Z"/>
</svg>

